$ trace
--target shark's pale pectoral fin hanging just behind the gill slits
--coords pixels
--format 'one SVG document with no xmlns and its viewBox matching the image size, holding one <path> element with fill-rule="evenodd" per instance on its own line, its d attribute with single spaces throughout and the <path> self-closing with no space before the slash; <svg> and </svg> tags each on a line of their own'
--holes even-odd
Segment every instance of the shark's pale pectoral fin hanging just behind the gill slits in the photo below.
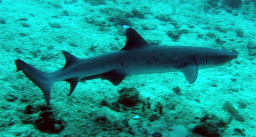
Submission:
<svg viewBox="0 0 256 137">
<path fill-rule="evenodd" d="M 177 69 L 184 74 L 189 84 L 192 84 L 196 81 L 197 74 L 198 74 L 198 65 L 188 64 L 182 67 L 177 67 Z"/>
</svg>

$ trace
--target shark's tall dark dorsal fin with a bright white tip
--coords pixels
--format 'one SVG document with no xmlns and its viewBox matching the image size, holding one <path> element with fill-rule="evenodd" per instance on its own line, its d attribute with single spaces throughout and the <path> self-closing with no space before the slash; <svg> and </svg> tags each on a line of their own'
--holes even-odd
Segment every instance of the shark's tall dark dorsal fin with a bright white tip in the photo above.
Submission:
<svg viewBox="0 0 256 137">
<path fill-rule="evenodd" d="M 124 32 L 126 34 L 126 44 L 121 50 L 136 49 L 145 47 L 148 43 L 130 26 L 124 25 Z"/>
</svg>

